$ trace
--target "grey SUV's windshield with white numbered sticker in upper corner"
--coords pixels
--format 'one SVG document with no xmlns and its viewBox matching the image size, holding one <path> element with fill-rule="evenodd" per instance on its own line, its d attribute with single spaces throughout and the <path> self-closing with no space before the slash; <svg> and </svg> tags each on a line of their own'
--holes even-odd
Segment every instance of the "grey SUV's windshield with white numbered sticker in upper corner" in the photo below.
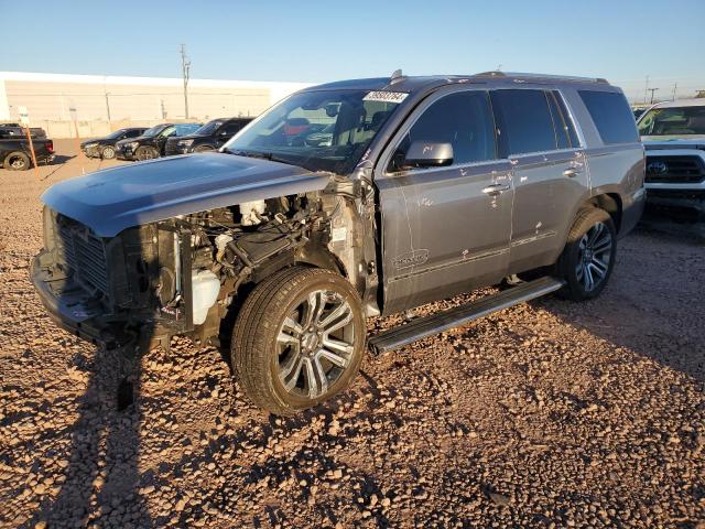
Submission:
<svg viewBox="0 0 705 529">
<path fill-rule="evenodd" d="M 225 150 L 347 174 L 405 96 L 367 90 L 294 94 L 232 138 Z"/>
</svg>

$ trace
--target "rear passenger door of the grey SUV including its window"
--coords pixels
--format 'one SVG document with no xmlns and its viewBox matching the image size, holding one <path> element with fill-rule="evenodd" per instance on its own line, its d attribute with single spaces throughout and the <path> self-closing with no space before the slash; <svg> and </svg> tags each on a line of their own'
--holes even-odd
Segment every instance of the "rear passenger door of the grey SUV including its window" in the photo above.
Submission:
<svg viewBox="0 0 705 529">
<path fill-rule="evenodd" d="M 585 156 L 557 90 L 497 89 L 500 153 L 511 163 L 514 204 L 509 273 L 551 264 L 574 205 L 589 193 Z"/>
</svg>

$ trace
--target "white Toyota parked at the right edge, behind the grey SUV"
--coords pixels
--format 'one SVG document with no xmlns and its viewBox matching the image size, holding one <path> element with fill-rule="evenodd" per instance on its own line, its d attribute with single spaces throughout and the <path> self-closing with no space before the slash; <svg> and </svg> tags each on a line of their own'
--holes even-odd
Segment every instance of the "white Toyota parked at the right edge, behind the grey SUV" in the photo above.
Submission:
<svg viewBox="0 0 705 529">
<path fill-rule="evenodd" d="M 705 99 L 660 102 L 638 121 L 650 207 L 705 218 Z"/>
</svg>

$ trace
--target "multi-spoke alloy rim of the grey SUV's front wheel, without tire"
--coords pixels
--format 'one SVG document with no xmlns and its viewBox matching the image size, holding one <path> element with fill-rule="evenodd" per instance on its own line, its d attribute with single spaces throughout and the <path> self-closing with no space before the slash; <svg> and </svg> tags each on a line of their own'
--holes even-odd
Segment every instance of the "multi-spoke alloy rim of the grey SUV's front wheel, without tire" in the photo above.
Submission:
<svg viewBox="0 0 705 529">
<path fill-rule="evenodd" d="M 299 397 L 324 395 L 350 365 L 355 328 L 352 309 L 338 293 L 308 293 L 279 330 L 279 380 Z"/>
</svg>

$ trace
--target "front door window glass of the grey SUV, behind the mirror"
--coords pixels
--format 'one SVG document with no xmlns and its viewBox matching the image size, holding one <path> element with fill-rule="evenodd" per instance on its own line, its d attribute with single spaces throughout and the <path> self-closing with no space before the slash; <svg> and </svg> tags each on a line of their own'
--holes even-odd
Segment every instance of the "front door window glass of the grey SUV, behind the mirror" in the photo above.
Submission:
<svg viewBox="0 0 705 529">
<path fill-rule="evenodd" d="M 453 163 L 494 160 L 495 121 L 486 91 L 460 91 L 431 105 L 411 127 L 394 153 L 390 171 L 401 166 L 414 141 L 451 143 Z"/>
</svg>

